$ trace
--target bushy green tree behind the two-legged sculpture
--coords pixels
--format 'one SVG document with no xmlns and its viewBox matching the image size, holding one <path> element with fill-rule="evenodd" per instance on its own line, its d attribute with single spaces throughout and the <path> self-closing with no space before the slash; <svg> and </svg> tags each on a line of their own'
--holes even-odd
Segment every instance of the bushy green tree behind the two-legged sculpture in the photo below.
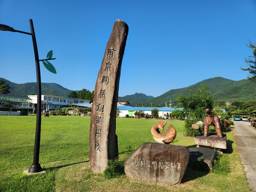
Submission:
<svg viewBox="0 0 256 192">
<path fill-rule="evenodd" d="M 196 89 L 196 92 L 190 90 L 189 96 L 179 95 L 176 98 L 178 106 L 183 107 L 183 112 L 188 117 L 196 121 L 202 121 L 206 116 L 205 109 L 213 109 L 215 106 L 215 98 L 210 96 L 207 85 L 202 84 Z"/>
</svg>

